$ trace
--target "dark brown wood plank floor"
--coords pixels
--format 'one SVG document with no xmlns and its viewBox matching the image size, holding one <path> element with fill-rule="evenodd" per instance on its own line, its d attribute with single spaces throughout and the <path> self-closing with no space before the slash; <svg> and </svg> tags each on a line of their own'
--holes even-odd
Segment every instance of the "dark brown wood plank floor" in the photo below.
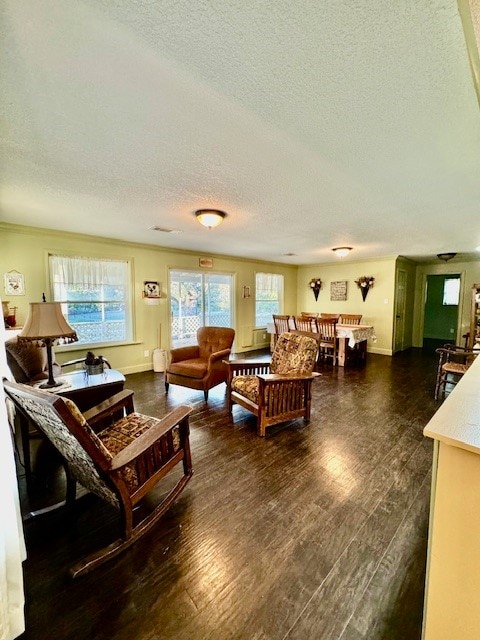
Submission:
<svg viewBox="0 0 480 640">
<path fill-rule="evenodd" d="M 152 532 L 77 581 L 68 566 L 116 535 L 110 508 L 86 496 L 74 520 L 28 521 L 22 638 L 420 638 L 434 368 L 420 350 L 325 365 L 311 423 L 265 439 L 238 406 L 230 423 L 223 385 L 207 405 L 176 386 L 165 397 L 162 374 L 128 376 L 143 413 L 193 406 L 195 475 Z M 20 479 L 24 510 L 54 499 L 48 460 L 40 447 L 31 503 Z"/>
</svg>

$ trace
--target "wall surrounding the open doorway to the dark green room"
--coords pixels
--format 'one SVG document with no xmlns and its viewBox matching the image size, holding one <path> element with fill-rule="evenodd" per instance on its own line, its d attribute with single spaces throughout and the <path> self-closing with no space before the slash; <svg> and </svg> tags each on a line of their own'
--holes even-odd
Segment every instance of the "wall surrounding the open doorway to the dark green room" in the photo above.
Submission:
<svg viewBox="0 0 480 640">
<path fill-rule="evenodd" d="M 416 269 L 415 282 L 415 312 L 413 346 L 421 347 L 423 342 L 423 316 L 425 307 L 426 281 L 428 275 L 461 274 L 462 289 L 459 305 L 459 323 L 456 343 L 463 345 L 463 334 L 470 329 L 470 311 L 472 286 L 480 282 L 480 261 L 474 262 L 438 262 L 435 264 L 420 264 Z"/>
</svg>

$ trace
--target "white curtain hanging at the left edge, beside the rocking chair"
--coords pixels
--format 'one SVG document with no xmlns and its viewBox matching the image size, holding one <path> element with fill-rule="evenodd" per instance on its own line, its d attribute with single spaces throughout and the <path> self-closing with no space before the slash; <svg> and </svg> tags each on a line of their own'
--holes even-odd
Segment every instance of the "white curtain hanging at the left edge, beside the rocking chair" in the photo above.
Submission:
<svg viewBox="0 0 480 640">
<path fill-rule="evenodd" d="M 8 374 L 3 325 L 0 338 L 3 377 Z M 26 552 L 3 384 L 0 384 L 0 469 L 0 640 L 13 640 L 25 630 L 22 562 Z"/>
</svg>

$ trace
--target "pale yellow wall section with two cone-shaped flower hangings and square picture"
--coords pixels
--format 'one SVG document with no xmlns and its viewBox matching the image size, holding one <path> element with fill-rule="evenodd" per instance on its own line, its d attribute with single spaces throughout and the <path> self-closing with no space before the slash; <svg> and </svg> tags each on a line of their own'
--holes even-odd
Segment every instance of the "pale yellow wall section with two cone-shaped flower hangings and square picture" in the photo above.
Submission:
<svg viewBox="0 0 480 640">
<path fill-rule="evenodd" d="M 395 291 L 396 258 L 309 265 L 298 268 L 297 312 L 318 311 L 323 313 L 361 313 L 362 323 L 375 327 L 376 342 L 369 341 L 368 350 L 384 355 L 392 354 L 393 309 Z M 373 276 L 375 285 L 368 292 L 365 302 L 355 284 L 359 276 Z M 322 280 L 322 289 L 315 301 L 308 283 L 311 278 Z M 330 283 L 347 280 L 347 300 L 330 300 Z"/>
</svg>

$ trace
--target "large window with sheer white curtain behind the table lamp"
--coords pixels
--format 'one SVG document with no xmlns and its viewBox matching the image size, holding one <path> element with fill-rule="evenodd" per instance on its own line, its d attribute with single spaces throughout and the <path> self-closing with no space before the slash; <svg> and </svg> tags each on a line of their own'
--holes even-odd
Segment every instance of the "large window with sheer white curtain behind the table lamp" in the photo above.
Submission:
<svg viewBox="0 0 480 640">
<path fill-rule="evenodd" d="M 131 340 L 127 260 L 50 255 L 49 267 L 53 300 L 80 344 Z"/>
</svg>

